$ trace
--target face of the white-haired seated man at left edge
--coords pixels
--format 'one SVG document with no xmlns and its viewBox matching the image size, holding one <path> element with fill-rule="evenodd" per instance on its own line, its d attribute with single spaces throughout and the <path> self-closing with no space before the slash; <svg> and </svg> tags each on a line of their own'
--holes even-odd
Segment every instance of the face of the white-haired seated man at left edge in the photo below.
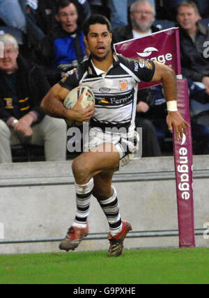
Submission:
<svg viewBox="0 0 209 298">
<path fill-rule="evenodd" d="M 12 73 L 17 69 L 17 57 L 19 51 L 13 44 L 4 46 L 3 58 L 0 58 L 0 69 L 7 73 Z"/>
</svg>

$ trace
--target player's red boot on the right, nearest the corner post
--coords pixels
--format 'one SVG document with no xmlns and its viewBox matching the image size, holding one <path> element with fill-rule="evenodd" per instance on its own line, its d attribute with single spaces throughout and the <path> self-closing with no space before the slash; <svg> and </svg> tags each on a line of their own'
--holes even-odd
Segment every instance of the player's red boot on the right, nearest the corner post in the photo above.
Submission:
<svg viewBox="0 0 209 298">
<path fill-rule="evenodd" d="M 122 221 L 122 224 L 123 227 L 121 233 L 118 233 L 115 236 L 112 236 L 111 234 L 108 235 L 110 243 L 108 257 L 118 257 L 123 253 L 123 241 L 125 240 L 127 233 L 132 230 L 132 226 L 128 221 Z"/>
</svg>

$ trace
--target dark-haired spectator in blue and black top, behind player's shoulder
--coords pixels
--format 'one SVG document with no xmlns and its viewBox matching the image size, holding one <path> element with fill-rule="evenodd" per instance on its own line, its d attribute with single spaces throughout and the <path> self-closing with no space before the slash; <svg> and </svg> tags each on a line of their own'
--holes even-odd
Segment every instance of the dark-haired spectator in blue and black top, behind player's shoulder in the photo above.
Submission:
<svg viewBox="0 0 209 298">
<path fill-rule="evenodd" d="M 65 72 L 76 68 L 86 55 L 83 16 L 77 0 L 60 0 L 56 8 L 58 25 L 34 49 L 36 61 L 50 84 L 56 84 Z"/>
</svg>

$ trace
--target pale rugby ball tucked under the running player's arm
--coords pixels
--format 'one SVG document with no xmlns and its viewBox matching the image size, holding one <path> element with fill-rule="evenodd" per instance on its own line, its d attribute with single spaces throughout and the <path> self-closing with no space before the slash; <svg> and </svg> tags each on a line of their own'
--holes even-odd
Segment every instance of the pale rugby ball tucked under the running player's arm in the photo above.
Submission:
<svg viewBox="0 0 209 298">
<path fill-rule="evenodd" d="M 77 100 L 80 95 L 83 94 L 82 98 L 82 108 L 86 109 L 86 107 L 91 106 L 91 104 L 95 103 L 95 96 L 93 94 L 93 91 L 88 86 L 79 86 L 70 91 L 68 95 L 65 97 L 65 100 L 63 102 L 66 109 L 73 109 L 75 107 L 75 104 L 77 103 Z M 65 119 L 65 122 L 69 126 L 80 126 L 82 125 L 81 122 Z"/>
</svg>

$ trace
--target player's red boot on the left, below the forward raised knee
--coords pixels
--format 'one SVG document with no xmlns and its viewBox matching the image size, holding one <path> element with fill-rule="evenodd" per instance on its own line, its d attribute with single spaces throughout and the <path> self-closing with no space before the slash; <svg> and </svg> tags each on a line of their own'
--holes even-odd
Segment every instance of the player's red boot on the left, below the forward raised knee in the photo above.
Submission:
<svg viewBox="0 0 209 298">
<path fill-rule="evenodd" d="M 61 242 L 61 244 L 59 244 L 59 249 L 63 251 L 74 251 L 87 235 L 88 224 L 86 228 L 77 228 L 76 226 L 71 226 L 65 239 Z"/>
</svg>

